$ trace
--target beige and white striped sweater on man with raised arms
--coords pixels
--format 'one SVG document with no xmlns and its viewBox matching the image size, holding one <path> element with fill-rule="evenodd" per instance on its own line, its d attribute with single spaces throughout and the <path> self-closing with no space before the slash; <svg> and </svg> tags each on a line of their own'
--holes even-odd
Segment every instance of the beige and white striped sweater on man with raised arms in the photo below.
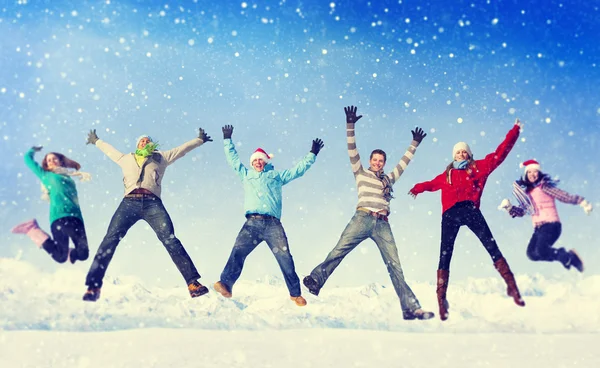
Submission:
<svg viewBox="0 0 600 368">
<path fill-rule="evenodd" d="M 356 180 L 356 189 L 358 191 L 357 208 L 363 207 L 374 212 L 386 211 L 390 212 L 390 202 L 383 196 L 383 183 L 374 172 L 365 170 L 360 163 L 360 155 L 356 149 L 356 137 L 354 135 L 354 126 L 346 125 L 346 138 L 348 141 L 348 155 L 350 156 L 350 164 Z M 390 179 L 390 184 L 394 185 L 400 176 L 404 173 L 404 169 L 413 158 L 419 142 L 413 140 L 400 162 L 394 167 L 390 173 L 385 174 Z"/>
</svg>

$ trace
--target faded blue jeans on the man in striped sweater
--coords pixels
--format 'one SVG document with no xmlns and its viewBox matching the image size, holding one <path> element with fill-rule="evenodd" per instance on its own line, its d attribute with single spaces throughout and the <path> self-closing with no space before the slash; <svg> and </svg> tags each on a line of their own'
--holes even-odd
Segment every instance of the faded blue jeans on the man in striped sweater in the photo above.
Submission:
<svg viewBox="0 0 600 368">
<path fill-rule="evenodd" d="M 402 311 L 412 312 L 421 308 L 417 297 L 404 280 L 398 249 L 390 224 L 363 211 L 356 211 L 340 236 L 340 240 L 329 252 L 325 261 L 310 273 L 310 276 L 317 281 L 319 288 L 323 287 L 344 257 L 365 239 L 372 239 L 377 244 L 383 262 L 390 274 L 392 285 L 396 290 L 396 295 L 400 299 Z"/>
</svg>

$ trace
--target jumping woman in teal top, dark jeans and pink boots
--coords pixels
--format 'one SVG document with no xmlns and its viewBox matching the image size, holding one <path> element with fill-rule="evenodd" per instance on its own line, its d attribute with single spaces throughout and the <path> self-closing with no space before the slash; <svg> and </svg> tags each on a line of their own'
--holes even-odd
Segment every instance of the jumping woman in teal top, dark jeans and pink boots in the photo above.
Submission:
<svg viewBox="0 0 600 368">
<path fill-rule="evenodd" d="M 50 152 L 42 165 L 34 160 L 42 147 L 32 147 L 25 154 L 25 164 L 42 182 L 42 198 L 50 201 L 50 224 L 52 237 L 42 230 L 35 219 L 15 226 L 15 234 L 27 234 L 39 247 L 43 248 L 58 263 L 67 259 L 71 263 L 85 261 L 89 255 L 87 236 L 83 224 L 77 188 L 73 176 L 82 181 L 89 180 L 87 173 L 79 172 L 79 163 L 56 152 Z M 75 169 L 75 171 L 69 170 Z M 69 248 L 69 238 L 75 248 Z"/>
</svg>

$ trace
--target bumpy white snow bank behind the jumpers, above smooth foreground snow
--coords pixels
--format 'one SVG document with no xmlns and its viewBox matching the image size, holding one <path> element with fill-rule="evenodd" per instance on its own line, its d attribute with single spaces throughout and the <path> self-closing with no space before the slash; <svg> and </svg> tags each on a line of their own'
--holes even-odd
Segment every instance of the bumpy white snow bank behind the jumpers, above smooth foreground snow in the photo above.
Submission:
<svg viewBox="0 0 600 368">
<path fill-rule="evenodd" d="M 391 285 L 326 287 L 296 307 L 281 279 L 241 280 L 234 297 L 211 292 L 191 299 L 184 285 L 158 288 L 134 277 L 107 278 L 101 299 L 81 300 L 82 271 L 46 273 L 0 258 L 0 330 L 114 331 L 139 328 L 211 330 L 368 329 L 426 333 L 597 333 L 600 276 L 548 280 L 517 275 L 527 303 L 514 305 L 500 277 L 454 282 L 450 319 L 404 321 Z M 201 280 L 211 286 L 214 280 Z M 436 312 L 432 283 L 411 285 L 425 309 Z"/>
</svg>

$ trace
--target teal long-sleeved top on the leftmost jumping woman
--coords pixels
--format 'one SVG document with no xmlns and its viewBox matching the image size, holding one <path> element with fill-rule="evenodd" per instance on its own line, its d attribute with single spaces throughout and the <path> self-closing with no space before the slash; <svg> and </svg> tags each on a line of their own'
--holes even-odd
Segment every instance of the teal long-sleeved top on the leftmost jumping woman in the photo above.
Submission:
<svg viewBox="0 0 600 368">
<path fill-rule="evenodd" d="M 44 170 L 33 156 L 35 151 L 30 149 L 25 154 L 25 165 L 33 171 L 42 184 L 48 189 L 50 197 L 50 223 L 63 217 L 77 217 L 83 221 L 81 209 L 79 208 L 79 197 L 75 182 L 70 176 L 55 174 Z"/>
</svg>

